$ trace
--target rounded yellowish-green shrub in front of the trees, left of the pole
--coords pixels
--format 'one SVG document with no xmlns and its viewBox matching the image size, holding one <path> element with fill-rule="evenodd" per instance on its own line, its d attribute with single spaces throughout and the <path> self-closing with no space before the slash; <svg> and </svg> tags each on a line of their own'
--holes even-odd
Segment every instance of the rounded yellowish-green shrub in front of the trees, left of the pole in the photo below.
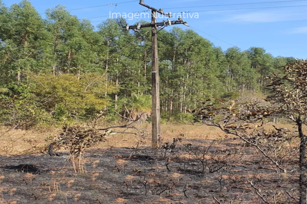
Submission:
<svg viewBox="0 0 307 204">
<path fill-rule="evenodd" d="M 110 93 L 116 92 L 104 75 L 42 74 L 31 78 L 31 90 L 41 107 L 53 118 L 64 119 L 91 117 L 109 105 Z"/>
</svg>

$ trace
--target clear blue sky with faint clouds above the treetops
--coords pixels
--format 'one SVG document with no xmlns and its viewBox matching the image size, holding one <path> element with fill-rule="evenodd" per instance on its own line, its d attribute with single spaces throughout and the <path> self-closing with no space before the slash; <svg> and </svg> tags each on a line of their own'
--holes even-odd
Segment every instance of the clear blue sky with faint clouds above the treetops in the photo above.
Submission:
<svg viewBox="0 0 307 204">
<path fill-rule="evenodd" d="M 46 9 L 53 8 L 61 4 L 67 9 L 76 9 L 82 7 L 91 7 L 98 5 L 113 4 L 110 6 L 88 8 L 81 10 L 72 10 L 71 14 L 78 16 L 78 18 L 90 18 L 94 25 L 99 24 L 96 21 L 103 21 L 107 17 L 91 18 L 97 16 L 109 15 L 109 12 L 115 13 L 129 13 L 136 11 L 147 10 L 138 2 L 131 2 L 126 4 L 115 3 L 127 2 L 132 0 L 54 0 L 41 1 L 31 0 L 39 13 L 44 13 Z M 206 34 L 214 36 L 215 38 L 206 35 L 200 31 L 195 31 L 201 36 L 210 40 L 215 46 L 221 46 L 223 50 L 236 45 L 242 50 L 248 49 L 251 46 L 263 47 L 268 53 L 274 57 L 296 57 L 307 59 L 307 0 L 295 2 L 279 2 L 266 4 L 252 4 L 252 5 L 232 5 L 229 4 L 243 4 L 243 3 L 264 3 L 264 2 L 279 2 L 286 0 L 169 0 L 169 1 L 149 1 L 145 0 L 145 4 L 160 8 L 175 8 L 184 7 L 180 9 L 164 9 L 164 12 L 183 12 L 189 11 L 198 13 L 198 18 L 185 18 L 192 28 L 196 28 Z M 16 0 L 3 0 L 6 6 L 13 3 L 19 3 Z M 228 6 L 212 6 L 211 5 L 228 5 Z M 228 10 L 227 9 L 244 9 L 244 8 L 262 8 L 262 7 L 282 7 L 282 6 L 300 6 L 303 7 L 289 7 L 289 8 L 269 8 L 269 9 L 247 9 L 247 10 Z M 203 7 L 202 7 L 203 6 Z M 195 7 L 195 8 L 186 8 Z M 208 10 L 223 10 L 223 11 L 208 11 Z M 206 12 L 200 12 L 206 11 Z M 196 15 L 196 14 L 195 14 Z M 43 15 L 45 16 L 45 15 Z M 187 17 L 187 14 L 185 14 Z M 139 18 L 140 19 L 140 18 Z M 133 24 L 138 19 L 128 20 L 129 24 Z M 145 19 L 148 20 L 148 19 Z M 160 21 L 162 21 L 161 19 Z M 95 22 L 94 22 L 95 21 Z M 181 28 L 186 29 L 184 25 Z M 166 30 L 171 29 L 168 27 Z M 220 41 L 218 39 L 223 41 Z M 226 43 L 227 42 L 227 43 Z M 229 44 L 228 44 L 229 43 Z M 231 44 L 231 45 L 230 45 Z"/>
</svg>

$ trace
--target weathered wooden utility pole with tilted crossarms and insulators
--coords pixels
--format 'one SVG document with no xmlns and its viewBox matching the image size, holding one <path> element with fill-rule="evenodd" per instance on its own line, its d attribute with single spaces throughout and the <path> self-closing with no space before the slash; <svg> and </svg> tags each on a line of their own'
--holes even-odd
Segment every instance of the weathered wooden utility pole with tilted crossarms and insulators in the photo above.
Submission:
<svg viewBox="0 0 307 204">
<path fill-rule="evenodd" d="M 126 29 L 133 29 L 135 31 L 139 31 L 141 28 L 150 28 L 151 27 L 151 49 L 152 49 L 152 60 L 151 60 L 151 123 L 152 123 L 152 131 L 151 131 L 151 148 L 158 148 L 158 140 L 160 137 L 160 88 L 159 88 L 159 61 L 158 61 L 158 32 L 157 28 L 165 28 L 168 25 L 172 24 L 186 24 L 182 18 L 178 20 L 170 21 L 166 20 L 163 22 L 157 23 L 157 14 L 160 13 L 168 18 L 171 18 L 171 13 L 164 13 L 163 9 L 155 9 L 150 6 L 144 4 L 144 0 L 140 1 L 140 5 L 151 10 L 151 23 L 141 25 L 138 23 L 137 25 L 129 26 L 126 25 Z"/>
</svg>

